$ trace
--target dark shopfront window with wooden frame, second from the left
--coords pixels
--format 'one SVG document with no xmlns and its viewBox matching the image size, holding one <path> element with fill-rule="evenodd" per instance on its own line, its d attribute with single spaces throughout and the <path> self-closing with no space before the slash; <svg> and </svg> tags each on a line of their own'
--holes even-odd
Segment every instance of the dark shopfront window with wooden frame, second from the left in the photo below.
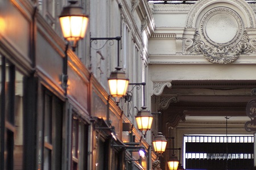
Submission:
<svg viewBox="0 0 256 170">
<path fill-rule="evenodd" d="M 43 169 L 61 169 L 63 102 L 51 92 L 44 94 Z"/>
</svg>

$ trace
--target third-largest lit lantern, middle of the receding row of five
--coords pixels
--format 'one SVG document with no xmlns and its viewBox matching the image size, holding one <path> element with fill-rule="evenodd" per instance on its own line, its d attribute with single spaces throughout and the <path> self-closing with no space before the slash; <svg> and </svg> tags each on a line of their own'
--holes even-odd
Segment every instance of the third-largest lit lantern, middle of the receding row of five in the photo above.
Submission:
<svg viewBox="0 0 256 170">
<path fill-rule="evenodd" d="M 147 131 L 151 129 L 152 121 L 153 121 L 153 116 L 150 113 L 150 111 L 146 110 L 146 107 L 142 107 L 142 110 L 137 113 L 135 116 L 138 129 L 143 131 Z"/>
</svg>

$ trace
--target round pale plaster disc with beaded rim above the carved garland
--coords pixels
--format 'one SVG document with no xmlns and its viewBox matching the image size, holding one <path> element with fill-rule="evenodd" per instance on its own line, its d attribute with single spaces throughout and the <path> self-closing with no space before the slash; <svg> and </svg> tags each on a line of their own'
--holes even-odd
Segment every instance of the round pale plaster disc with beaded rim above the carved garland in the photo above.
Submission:
<svg viewBox="0 0 256 170">
<path fill-rule="evenodd" d="M 202 38 L 210 46 L 234 46 L 241 40 L 242 32 L 241 18 L 224 7 L 209 11 L 200 24 Z"/>
</svg>

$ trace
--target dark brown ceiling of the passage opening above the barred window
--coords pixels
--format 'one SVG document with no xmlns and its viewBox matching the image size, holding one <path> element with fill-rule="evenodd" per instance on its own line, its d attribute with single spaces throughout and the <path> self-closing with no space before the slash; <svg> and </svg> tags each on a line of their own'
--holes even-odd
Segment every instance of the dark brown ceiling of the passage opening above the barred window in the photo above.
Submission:
<svg viewBox="0 0 256 170">
<path fill-rule="evenodd" d="M 159 98 L 176 97 L 176 101 L 159 111 L 171 115 L 164 120 L 171 122 L 172 126 L 177 126 L 180 120 L 226 121 L 224 117 L 233 121 L 250 120 L 246 115 L 246 105 L 251 99 L 256 99 L 252 93 L 255 80 L 174 80 L 171 84 L 172 87 L 165 87 Z"/>
</svg>

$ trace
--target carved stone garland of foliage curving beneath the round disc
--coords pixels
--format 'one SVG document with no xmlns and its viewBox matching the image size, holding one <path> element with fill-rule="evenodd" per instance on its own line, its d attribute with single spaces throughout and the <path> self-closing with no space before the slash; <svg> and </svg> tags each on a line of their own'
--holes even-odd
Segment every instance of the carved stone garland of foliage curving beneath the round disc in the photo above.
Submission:
<svg viewBox="0 0 256 170">
<path fill-rule="evenodd" d="M 209 62 L 212 63 L 232 63 L 240 56 L 240 54 L 253 53 L 256 49 L 256 39 L 250 39 L 247 31 L 243 31 L 242 39 L 234 46 L 229 45 L 207 45 L 202 41 L 198 32 L 195 33 L 194 39 L 185 40 L 185 53 L 203 54 Z"/>
</svg>

